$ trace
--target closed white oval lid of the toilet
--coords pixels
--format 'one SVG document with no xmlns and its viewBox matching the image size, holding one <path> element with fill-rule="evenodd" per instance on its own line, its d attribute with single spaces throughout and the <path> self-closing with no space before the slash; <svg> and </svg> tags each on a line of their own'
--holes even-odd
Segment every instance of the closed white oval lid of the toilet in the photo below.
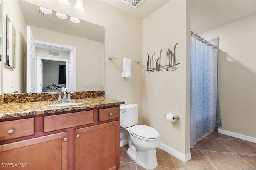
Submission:
<svg viewBox="0 0 256 170">
<path fill-rule="evenodd" d="M 134 134 L 135 137 L 137 136 L 148 139 L 156 139 L 159 137 L 159 133 L 158 131 L 156 131 L 156 129 L 146 125 L 135 125 L 133 127 L 130 127 L 130 132 L 131 134 Z"/>
</svg>

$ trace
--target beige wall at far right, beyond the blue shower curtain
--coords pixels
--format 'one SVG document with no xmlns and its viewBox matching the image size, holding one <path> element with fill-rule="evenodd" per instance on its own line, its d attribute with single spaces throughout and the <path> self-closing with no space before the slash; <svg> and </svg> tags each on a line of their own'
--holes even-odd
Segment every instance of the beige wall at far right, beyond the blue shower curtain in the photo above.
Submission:
<svg viewBox="0 0 256 170">
<path fill-rule="evenodd" d="M 199 33 L 219 37 L 222 129 L 256 138 L 256 15 Z M 236 58 L 237 63 L 234 63 Z"/>
</svg>

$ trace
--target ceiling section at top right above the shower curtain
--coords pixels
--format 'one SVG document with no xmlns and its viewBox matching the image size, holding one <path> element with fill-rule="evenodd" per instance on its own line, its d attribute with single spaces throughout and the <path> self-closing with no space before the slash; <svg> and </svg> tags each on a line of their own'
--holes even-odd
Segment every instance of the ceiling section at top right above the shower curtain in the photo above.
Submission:
<svg viewBox="0 0 256 170">
<path fill-rule="evenodd" d="M 192 0 L 191 30 L 200 33 L 256 14 L 256 0 Z"/>
</svg>

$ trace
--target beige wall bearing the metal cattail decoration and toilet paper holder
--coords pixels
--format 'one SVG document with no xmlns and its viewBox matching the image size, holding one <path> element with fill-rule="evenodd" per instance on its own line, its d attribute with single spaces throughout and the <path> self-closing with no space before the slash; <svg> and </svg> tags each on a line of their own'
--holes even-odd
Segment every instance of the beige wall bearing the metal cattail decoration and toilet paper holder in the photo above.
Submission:
<svg viewBox="0 0 256 170">
<path fill-rule="evenodd" d="M 176 43 L 176 62 L 180 62 L 176 71 L 143 71 L 143 124 L 158 130 L 162 144 L 184 155 L 190 152 L 190 132 L 186 128 L 190 122 L 190 54 L 186 53 L 190 47 L 190 18 L 186 16 L 186 3 L 170 1 L 143 19 L 143 69 L 147 53 L 151 56 L 155 51 L 155 57 L 159 57 L 161 49 L 161 65 L 166 65 L 166 50 L 173 51 Z M 179 115 L 180 119 L 175 123 L 166 121 L 166 113 Z"/>
</svg>

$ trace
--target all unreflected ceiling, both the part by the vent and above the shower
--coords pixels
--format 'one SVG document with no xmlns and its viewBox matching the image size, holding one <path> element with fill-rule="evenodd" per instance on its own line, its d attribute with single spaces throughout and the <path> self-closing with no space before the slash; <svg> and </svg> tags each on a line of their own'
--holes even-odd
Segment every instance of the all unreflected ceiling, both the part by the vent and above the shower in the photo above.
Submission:
<svg viewBox="0 0 256 170">
<path fill-rule="evenodd" d="M 134 8 L 122 0 L 103 0 L 138 18 L 145 18 L 170 0 L 144 0 Z M 190 0 L 191 30 L 199 33 L 256 14 L 256 0 Z"/>
</svg>

